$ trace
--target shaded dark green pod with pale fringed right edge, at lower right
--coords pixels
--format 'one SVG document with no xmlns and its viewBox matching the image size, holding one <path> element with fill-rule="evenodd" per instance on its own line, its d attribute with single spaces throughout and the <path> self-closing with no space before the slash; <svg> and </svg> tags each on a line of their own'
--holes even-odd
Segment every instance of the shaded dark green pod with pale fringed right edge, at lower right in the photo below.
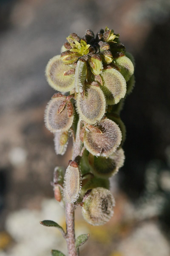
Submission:
<svg viewBox="0 0 170 256">
<path fill-rule="evenodd" d="M 105 179 L 115 175 L 119 171 L 119 168 L 123 166 L 125 160 L 125 154 L 122 148 L 119 148 L 108 158 L 93 157 L 92 172 L 94 175 Z"/>
</svg>

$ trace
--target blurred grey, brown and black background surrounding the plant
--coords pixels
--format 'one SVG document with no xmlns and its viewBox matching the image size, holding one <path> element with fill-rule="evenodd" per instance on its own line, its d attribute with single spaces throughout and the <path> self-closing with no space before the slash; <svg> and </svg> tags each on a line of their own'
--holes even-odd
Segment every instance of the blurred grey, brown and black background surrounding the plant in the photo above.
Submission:
<svg viewBox="0 0 170 256">
<path fill-rule="evenodd" d="M 50 181 L 56 156 L 43 115 L 54 94 L 44 76 L 66 36 L 108 26 L 136 60 L 136 86 L 121 113 L 125 165 L 111 179 L 115 214 L 101 227 L 76 210 L 81 256 L 170 256 L 170 1 L 0 0 L 0 256 L 67 253 Z"/>
</svg>

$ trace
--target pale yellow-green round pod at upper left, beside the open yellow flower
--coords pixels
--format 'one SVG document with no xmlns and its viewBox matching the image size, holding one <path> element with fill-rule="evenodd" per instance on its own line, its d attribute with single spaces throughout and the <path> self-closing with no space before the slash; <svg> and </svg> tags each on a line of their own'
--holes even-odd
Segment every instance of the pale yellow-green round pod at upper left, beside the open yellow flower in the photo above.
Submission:
<svg viewBox="0 0 170 256">
<path fill-rule="evenodd" d="M 65 72 L 73 69 L 74 65 L 65 65 L 60 55 L 54 56 L 48 61 L 45 76 L 48 84 L 60 92 L 68 92 L 74 88 L 74 75 L 65 76 Z"/>
</svg>

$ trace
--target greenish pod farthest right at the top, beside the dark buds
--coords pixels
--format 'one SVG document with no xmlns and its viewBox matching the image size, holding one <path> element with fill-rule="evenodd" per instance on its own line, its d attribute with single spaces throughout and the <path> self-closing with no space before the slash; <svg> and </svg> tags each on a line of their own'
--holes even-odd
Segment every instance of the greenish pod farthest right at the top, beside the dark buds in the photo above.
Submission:
<svg viewBox="0 0 170 256">
<path fill-rule="evenodd" d="M 116 65 L 120 67 L 120 73 L 125 78 L 126 82 L 129 81 L 130 76 L 134 73 L 134 66 L 132 61 L 126 56 L 122 56 L 115 59 Z"/>
</svg>

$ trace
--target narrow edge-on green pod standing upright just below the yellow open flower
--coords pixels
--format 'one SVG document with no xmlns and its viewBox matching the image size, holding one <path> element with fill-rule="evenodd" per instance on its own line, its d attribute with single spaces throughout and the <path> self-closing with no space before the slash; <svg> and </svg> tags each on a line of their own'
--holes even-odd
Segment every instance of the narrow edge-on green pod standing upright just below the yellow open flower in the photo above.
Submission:
<svg viewBox="0 0 170 256">
<path fill-rule="evenodd" d="M 87 78 L 87 65 L 85 61 L 77 61 L 75 70 L 75 89 L 77 93 L 82 93 Z"/>
</svg>

